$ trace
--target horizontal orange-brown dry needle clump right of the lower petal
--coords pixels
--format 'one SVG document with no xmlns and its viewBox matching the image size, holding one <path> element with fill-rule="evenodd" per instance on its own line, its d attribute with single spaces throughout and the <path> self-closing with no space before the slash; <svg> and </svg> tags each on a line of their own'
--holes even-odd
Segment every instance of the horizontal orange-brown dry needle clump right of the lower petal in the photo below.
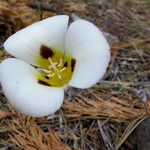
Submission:
<svg viewBox="0 0 150 150">
<path fill-rule="evenodd" d="M 122 121 L 150 115 L 150 102 L 147 103 L 147 113 L 141 102 L 138 107 L 131 107 L 134 99 L 124 99 L 111 96 L 109 100 L 103 99 L 102 93 L 91 92 L 95 98 L 78 95 L 75 102 L 66 102 L 63 106 L 68 119 L 78 118 L 109 118 L 111 121 Z"/>
</svg>

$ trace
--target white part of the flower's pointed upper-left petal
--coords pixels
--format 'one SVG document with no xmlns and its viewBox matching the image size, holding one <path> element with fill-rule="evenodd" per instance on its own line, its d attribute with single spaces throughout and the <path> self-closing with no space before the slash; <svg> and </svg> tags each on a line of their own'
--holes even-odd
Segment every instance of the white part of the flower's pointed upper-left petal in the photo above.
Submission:
<svg viewBox="0 0 150 150">
<path fill-rule="evenodd" d="M 4 48 L 11 55 L 36 64 L 37 53 L 42 44 L 64 50 L 68 20 L 68 16 L 60 15 L 34 23 L 10 36 L 5 41 Z"/>
</svg>

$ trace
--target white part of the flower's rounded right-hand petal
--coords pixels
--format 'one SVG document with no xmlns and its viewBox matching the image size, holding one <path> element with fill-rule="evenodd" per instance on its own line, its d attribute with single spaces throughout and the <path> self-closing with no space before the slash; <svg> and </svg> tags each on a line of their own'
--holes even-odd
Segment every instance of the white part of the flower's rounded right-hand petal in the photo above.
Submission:
<svg viewBox="0 0 150 150">
<path fill-rule="evenodd" d="M 76 59 L 69 85 L 89 88 L 105 74 L 110 61 L 110 47 L 94 24 L 81 19 L 73 22 L 66 34 L 65 50 Z"/>
</svg>

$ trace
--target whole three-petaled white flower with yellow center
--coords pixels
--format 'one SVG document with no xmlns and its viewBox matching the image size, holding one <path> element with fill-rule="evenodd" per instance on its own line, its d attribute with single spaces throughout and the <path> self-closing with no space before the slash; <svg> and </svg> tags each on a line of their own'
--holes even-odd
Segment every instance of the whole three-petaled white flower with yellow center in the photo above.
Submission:
<svg viewBox="0 0 150 150">
<path fill-rule="evenodd" d="M 97 83 L 110 61 L 110 47 L 101 31 L 79 19 L 54 16 L 34 23 L 4 43 L 15 58 L 0 64 L 4 94 L 21 112 L 34 117 L 57 111 L 64 88 L 89 88 Z"/>
</svg>

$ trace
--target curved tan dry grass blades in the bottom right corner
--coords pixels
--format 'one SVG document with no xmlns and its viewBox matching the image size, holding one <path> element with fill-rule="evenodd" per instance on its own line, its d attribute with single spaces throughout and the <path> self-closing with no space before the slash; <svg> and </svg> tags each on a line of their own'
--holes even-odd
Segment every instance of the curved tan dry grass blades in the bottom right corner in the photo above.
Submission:
<svg viewBox="0 0 150 150">
<path fill-rule="evenodd" d="M 115 150 L 118 150 L 120 148 L 122 143 L 127 139 L 127 137 L 131 134 L 131 132 L 146 118 L 148 118 L 148 116 L 136 118 L 128 125 L 128 127 L 122 134 L 121 138 L 118 140 Z"/>
</svg>

